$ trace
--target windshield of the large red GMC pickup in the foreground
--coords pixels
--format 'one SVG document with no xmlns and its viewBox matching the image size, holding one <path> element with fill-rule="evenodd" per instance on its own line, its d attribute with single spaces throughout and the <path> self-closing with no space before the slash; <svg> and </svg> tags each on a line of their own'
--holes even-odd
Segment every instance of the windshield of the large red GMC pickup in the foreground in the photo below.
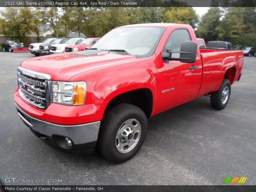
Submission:
<svg viewBox="0 0 256 192">
<path fill-rule="evenodd" d="M 91 49 L 113 50 L 113 52 L 129 53 L 138 57 L 149 57 L 155 52 L 164 30 L 165 28 L 161 27 L 113 29 L 100 38 Z"/>
</svg>

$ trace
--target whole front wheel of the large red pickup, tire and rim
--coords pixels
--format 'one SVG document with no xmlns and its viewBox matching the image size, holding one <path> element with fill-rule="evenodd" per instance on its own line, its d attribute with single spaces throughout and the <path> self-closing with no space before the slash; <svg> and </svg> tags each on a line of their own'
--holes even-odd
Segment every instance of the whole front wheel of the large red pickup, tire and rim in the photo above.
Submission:
<svg viewBox="0 0 256 192">
<path fill-rule="evenodd" d="M 148 129 L 145 113 L 131 104 L 119 104 L 104 116 L 98 150 L 107 160 L 122 163 L 140 150 Z"/>
</svg>

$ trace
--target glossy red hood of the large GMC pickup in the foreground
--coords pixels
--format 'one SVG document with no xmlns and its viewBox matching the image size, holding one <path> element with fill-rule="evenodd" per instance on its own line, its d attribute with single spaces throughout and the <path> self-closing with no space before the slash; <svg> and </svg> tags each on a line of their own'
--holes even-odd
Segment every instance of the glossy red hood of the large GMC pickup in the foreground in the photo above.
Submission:
<svg viewBox="0 0 256 192">
<path fill-rule="evenodd" d="M 80 56 L 60 53 L 23 61 L 22 68 L 51 75 L 52 80 L 69 81 L 80 73 L 109 65 L 139 59 L 136 56 L 105 53 L 92 56 Z"/>
</svg>

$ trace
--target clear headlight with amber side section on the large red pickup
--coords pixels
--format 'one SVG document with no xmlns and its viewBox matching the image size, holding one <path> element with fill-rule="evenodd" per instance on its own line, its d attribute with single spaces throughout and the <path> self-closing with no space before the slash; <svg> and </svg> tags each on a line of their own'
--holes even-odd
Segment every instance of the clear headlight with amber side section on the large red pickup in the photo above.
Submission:
<svg viewBox="0 0 256 192">
<path fill-rule="evenodd" d="M 85 100 L 86 83 L 81 82 L 52 82 L 52 100 L 54 103 L 68 105 L 83 105 Z"/>
</svg>

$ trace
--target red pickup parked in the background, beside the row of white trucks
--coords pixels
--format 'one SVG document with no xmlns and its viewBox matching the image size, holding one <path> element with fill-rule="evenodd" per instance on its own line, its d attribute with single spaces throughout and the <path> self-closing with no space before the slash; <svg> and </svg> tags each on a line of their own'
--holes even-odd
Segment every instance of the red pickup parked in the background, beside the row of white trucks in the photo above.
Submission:
<svg viewBox="0 0 256 192">
<path fill-rule="evenodd" d="M 72 52 L 72 51 L 83 51 L 85 49 L 89 49 L 93 44 L 95 44 L 100 38 L 86 38 L 84 41 L 82 41 L 80 44 L 75 45 L 67 45 L 65 48 L 66 52 Z"/>
</svg>

